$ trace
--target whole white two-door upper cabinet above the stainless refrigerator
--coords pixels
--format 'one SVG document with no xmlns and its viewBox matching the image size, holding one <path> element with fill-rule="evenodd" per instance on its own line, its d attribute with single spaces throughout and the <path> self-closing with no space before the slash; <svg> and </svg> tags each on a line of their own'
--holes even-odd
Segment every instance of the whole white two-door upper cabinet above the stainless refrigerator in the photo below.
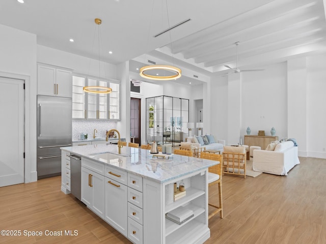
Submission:
<svg viewBox="0 0 326 244">
<path fill-rule="evenodd" d="M 72 73 L 70 70 L 38 65 L 38 95 L 71 98 Z"/>
</svg>

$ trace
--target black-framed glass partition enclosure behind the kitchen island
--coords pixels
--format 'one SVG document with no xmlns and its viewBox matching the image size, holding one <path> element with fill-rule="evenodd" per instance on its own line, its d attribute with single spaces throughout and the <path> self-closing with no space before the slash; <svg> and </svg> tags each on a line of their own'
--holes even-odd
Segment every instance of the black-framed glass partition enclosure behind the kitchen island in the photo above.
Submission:
<svg viewBox="0 0 326 244">
<path fill-rule="evenodd" d="M 179 146 L 188 137 L 189 100 L 169 96 L 146 99 L 146 142 Z"/>
</svg>

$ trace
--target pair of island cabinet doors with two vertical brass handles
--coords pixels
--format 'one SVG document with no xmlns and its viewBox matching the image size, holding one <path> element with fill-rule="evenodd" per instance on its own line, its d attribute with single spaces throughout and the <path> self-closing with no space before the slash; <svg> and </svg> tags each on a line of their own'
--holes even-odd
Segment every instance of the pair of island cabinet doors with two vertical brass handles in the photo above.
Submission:
<svg viewBox="0 0 326 244">
<path fill-rule="evenodd" d="M 104 176 L 82 167 L 82 202 L 104 218 Z"/>
</svg>

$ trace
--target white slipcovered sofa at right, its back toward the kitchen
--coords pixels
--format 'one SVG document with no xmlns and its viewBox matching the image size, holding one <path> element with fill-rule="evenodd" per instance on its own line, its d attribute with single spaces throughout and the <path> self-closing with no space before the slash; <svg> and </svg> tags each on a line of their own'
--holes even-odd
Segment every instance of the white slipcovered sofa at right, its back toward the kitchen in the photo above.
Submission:
<svg viewBox="0 0 326 244">
<path fill-rule="evenodd" d="M 292 169 L 295 165 L 300 164 L 297 156 L 297 146 L 294 146 L 292 141 L 281 142 L 275 146 L 269 144 L 266 149 L 268 150 L 256 149 L 253 151 L 254 171 L 277 175 L 287 175 L 290 169 Z"/>
</svg>

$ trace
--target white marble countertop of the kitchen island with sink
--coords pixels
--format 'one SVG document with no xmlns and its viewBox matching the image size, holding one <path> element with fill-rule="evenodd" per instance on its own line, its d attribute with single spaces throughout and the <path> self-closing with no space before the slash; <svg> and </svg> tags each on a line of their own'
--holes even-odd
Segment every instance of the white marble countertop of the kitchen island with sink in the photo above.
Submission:
<svg viewBox="0 0 326 244">
<path fill-rule="evenodd" d="M 149 150 L 128 146 L 122 147 L 119 155 L 118 146 L 114 144 L 69 146 L 61 147 L 61 149 L 160 183 L 219 163 L 218 161 L 181 155 L 170 155 L 169 159 L 157 159 L 153 158 L 153 154 L 150 154 Z"/>
</svg>

